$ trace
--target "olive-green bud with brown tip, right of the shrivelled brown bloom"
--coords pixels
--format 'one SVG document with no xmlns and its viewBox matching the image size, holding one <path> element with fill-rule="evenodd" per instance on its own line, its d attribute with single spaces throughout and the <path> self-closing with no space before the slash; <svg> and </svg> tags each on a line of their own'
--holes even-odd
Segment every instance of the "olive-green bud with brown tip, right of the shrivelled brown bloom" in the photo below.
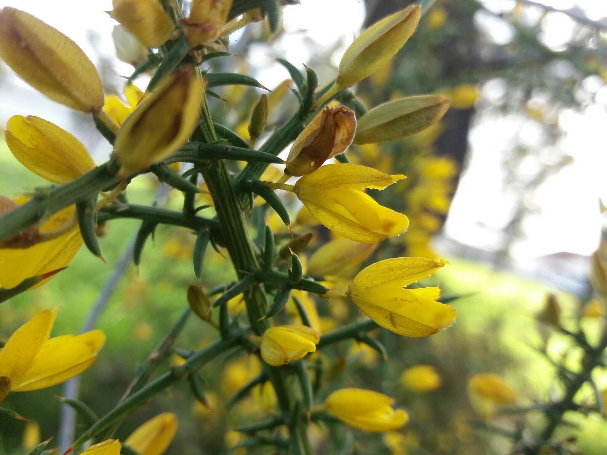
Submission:
<svg viewBox="0 0 607 455">
<path fill-rule="evenodd" d="M 354 144 L 398 141 L 441 119 L 449 99 L 436 95 L 407 96 L 374 107 L 358 121 Z"/>
</svg>

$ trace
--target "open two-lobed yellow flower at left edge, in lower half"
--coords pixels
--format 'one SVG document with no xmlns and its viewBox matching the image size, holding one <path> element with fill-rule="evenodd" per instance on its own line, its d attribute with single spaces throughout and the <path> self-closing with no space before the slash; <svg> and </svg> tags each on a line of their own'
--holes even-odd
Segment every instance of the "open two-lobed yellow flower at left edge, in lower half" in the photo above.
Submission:
<svg viewBox="0 0 607 455">
<path fill-rule="evenodd" d="M 82 335 L 49 339 L 56 310 L 45 310 L 21 326 L 0 351 L 0 377 L 10 379 L 10 390 L 25 392 L 64 382 L 97 359 L 105 335 L 93 330 Z"/>
</svg>

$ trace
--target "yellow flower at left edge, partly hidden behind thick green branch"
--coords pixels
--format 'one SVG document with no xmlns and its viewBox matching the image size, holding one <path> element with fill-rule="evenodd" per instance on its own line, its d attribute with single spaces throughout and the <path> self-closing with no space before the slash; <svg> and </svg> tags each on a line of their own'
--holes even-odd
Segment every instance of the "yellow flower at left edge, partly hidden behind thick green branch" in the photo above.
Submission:
<svg viewBox="0 0 607 455">
<path fill-rule="evenodd" d="M 15 202 L 24 204 L 30 197 L 19 197 Z M 61 209 L 42 223 L 39 231 L 50 232 L 69 223 L 75 214 L 75 206 Z M 0 287 L 12 289 L 27 278 L 50 274 L 67 266 L 82 245 L 78 224 L 52 240 L 36 243 L 29 248 L 0 248 Z M 46 282 L 43 280 L 36 286 Z"/>
</svg>

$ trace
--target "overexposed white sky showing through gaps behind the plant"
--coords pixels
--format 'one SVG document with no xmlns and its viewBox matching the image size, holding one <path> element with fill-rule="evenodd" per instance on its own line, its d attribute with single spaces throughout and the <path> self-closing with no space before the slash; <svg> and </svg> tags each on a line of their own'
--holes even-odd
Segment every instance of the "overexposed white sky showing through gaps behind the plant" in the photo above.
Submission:
<svg viewBox="0 0 607 455">
<path fill-rule="evenodd" d="M 455 0 L 454 0 L 455 1 Z M 593 19 L 607 16 L 605 0 L 543 0 L 557 8 L 582 7 Z M 118 75 L 129 75 L 132 67 L 118 61 L 115 56 L 111 32 L 116 22 L 106 13 L 111 9 L 111 0 L 81 1 L 62 0 L 0 0 L 0 7 L 10 5 L 32 13 L 72 38 L 95 64 L 100 58 L 115 68 Z M 287 33 L 274 44 L 273 55 L 282 55 L 290 61 L 308 62 L 314 49 L 304 42 L 305 35 L 320 47 L 330 47 L 339 41 L 333 61 L 337 63 L 345 47 L 359 33 L 364 18 L 364 4 L 358 0 L 301 0 L 301 5 L 285 8 L 283 24 Z M 508 12 L 515 4 L 512 0 L 483 0 L 493 12 Z M 324 14 L 317 13 L 322 4 Z M 529 10 L 528 20 L 534 19 L 534 10 Z M 495 16 L 481 15 L 476 21 L 486 30 L 490 39 L 500 44 L 512 38 L 509 24 L 496 20 Z M 561 13 L 549 15 L 543 22 L 543 40 L 554 50 L 561 49 L 573 31 L 573 22 Z M 234 42 L 238 35 L 232 35 Z M 91 40 L 97 44 L 95 48 Z M 100 52 L 103 55 L 98 55 Z M 270 65 L 267 50 L 253 49 L 252 58 L 262 65 Z M 257 52 L 257 54 L 255 54 Z M 262 84 L 273 88 L 287 73 L 273 65 L 260 73 Z M 586 103 L 583 112 L 565 110 L 558 116 L 558 123 L 566 130 L 563 141 L 558 144 L 572 157 L 572 164 L 541 187 L 536 201 L 540 204 L 537 215 L 524 222 L 527 240 L 514 246 L 512 255 L 525 262 L 540 255 L 568 251 L 588 255 L 596 248 L 602 219 L 599 215 L 599 195 L 607 203 L 607 86 L 600 81 L 588 81 L 597 92 L 597 103 Z M 324 81 L 320 81 L 321 83 Z M 499 81 L 487 84 L 483 96 L 495 96 Z M 493 87 L 493 88 L 492 88 Z M 499 87 L 497 87 L 499 88 Z M 99 147 L 95 131 L 83 132 L 82 122 L 73 111 L 44 98 L 9 75 L 0 83 L 0 124 L 15 114 L 38 115 L 69 130 L 92 150 L 97 161 L 103 161 L 109 147 Z M 483 103 L 481 98 L 480 103 Z M 504 192 L 502 187 L 501 161 L 503 153 L 513 138 L 524 138 L 533 146 L 537 129 L 523 117 L 503 116 L 484 118 L 470 130 L 471 154 L 469 167 L 464 170 L 452 210 L 446 224 L 446 235 L 461 243 L 477 248 L 494 249 L 499 244 L 501 228 L 518 203 L 514 195 Z M 524 163 L 530 172 L 538 163 Z M 523 169 L 524 172 L 524 169 Z"/>
</svg>

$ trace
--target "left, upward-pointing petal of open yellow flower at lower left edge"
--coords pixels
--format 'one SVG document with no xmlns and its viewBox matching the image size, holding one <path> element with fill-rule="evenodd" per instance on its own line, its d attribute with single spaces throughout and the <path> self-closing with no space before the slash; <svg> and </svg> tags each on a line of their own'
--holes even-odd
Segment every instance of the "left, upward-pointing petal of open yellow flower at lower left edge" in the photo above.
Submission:
<svg viewBox="0 0 607 455">
<path fill-rule="evenodd" d="M 56 314 L 56 309 L 39 312 L 17 329 L 0 351 L 0 376 L 7 376 L 13 387 L 31 368 L 36 355 L 49 339 Z"/>
</svg>

